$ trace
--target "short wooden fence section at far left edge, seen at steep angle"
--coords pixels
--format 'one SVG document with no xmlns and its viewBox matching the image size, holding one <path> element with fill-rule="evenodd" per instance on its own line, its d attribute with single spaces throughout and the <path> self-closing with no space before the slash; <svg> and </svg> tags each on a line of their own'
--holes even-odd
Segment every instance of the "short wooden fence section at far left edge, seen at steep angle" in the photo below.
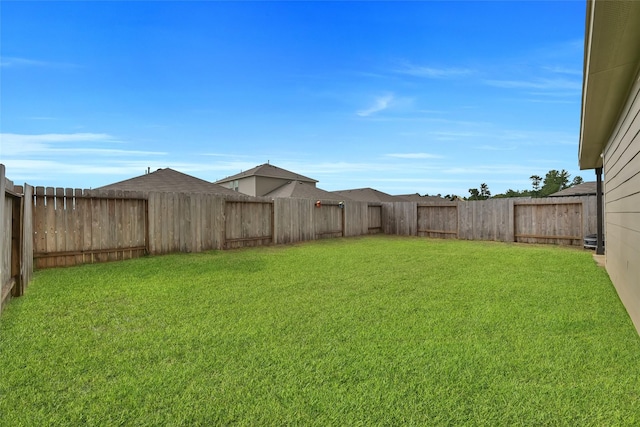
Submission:
<svg viewBox="0 0 640 427">
<path fill-rule="evenodd" d="M 21 296 L 33 274 L 31 203 L 33 187 L 14 186 L 0 164 L 0 311 Z"/>
</svg>

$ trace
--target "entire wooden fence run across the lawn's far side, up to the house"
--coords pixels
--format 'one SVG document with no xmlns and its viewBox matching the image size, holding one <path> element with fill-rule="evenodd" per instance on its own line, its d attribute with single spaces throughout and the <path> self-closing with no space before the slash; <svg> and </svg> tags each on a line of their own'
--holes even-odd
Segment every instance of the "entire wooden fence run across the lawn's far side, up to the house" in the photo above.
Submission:
<svg viewBox="0 0 640 427">
<path fill-rule="evenodd" d="M 36 267 L 372 233 L 582 245 L 595 197 L 417 204 L 266 199 L 200 193 L 100 193 L 37 187 Z"/>
</svg>

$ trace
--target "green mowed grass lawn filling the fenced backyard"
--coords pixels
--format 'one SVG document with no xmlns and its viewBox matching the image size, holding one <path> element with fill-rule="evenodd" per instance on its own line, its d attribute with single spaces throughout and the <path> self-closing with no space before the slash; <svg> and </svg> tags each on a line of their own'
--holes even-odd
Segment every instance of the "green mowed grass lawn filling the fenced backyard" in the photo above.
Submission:
<svg viewBox="0 0 640 427">
<path fill-rule="evenodd" d="M 38 271 L 0 425 L 639 425 L 592 253 L 374 236 Z"/>
</svg>

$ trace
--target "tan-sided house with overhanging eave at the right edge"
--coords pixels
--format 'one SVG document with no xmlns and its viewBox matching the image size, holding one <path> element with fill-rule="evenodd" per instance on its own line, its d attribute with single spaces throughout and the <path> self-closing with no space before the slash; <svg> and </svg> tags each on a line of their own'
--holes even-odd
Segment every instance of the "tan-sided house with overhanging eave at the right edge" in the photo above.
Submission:
<svg viewBox="0 0 640 427">
<path fill-rule="evenodd" d="M 640 331 L 640 1 L 586 11 L 578 160 L 603 177 L 605 265 Z"/>
</svg>

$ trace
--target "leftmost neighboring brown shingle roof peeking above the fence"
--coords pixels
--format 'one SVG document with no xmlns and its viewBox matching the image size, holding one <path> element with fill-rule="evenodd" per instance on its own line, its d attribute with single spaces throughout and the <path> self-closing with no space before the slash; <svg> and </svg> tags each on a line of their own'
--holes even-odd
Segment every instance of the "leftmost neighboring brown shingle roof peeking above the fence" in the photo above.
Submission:
<svg viewBox="0 0 640 427">
<path fill-rule="evenodd" d="M 96 190 L 159 191 L 176 193 L 209 193 L 238 195 L 233 190 L 170 168 L 158 169 L 135 178 L 98 187 Z"/>
</svg>

